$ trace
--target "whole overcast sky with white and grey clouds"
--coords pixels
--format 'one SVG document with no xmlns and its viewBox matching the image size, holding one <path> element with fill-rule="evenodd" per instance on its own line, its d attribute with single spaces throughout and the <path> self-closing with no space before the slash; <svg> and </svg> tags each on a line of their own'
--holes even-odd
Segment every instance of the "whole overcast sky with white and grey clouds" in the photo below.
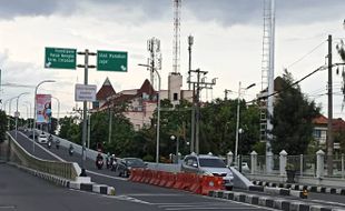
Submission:
<svg viewBox="0 0 345 211">
<path fill-rule="evenodd" d="M 288 68 L 297 80 L 325 64 L 327 36 L 335 38 L 334 47 L 345 37 L 344 11 L 344 0 L 276 0 L 275 76 Z M 149 72 L 137 64 L 147 61 L 146 43 L 152 37 L 161 42 L 160 73 L 162 89 L 167 89 L 167 77 L 172 70 L 172 33 L 171 0 L 2 0 L 1 82 L 28 88 L 3 86 L 1 99 L 29 91 L 19 105 L 26 118 L 23 101 L 33 102 L 34 86 L 53 79 L 56 83 L 45 83 L 39 92 L 60 99 L 61 115 L 72 110 L 75 83 L 82 83 L 83 71 L 45 69 L 45 47 L 128 51 L 127 73 L 90 70 L 89 83 L 99 89 L 109 77 L 117 92 L 139 88 Z M 185 89 L 189 34 L 195 37 L 193 69 L 208 71 L 208 81 L 218 78 L 213 91 L 203 91 L 204 100 L 224 98 L 225 89 L 234 91 L 230 98 L 237 98 L 239 81 L 244 87 L 257 84 L 245 94 L 246 100 L 255 98 L 262 89 L 263 0 L 183 0 L 180 73 Z M 81 61 L 78 57 L 78 63 Z M 338 61 L 335 48 L 334 61 Z M 325 114 L 326 81 L 327 72 L 322 71 L 300 83 L 302 91 L 321 103 Z M 341 82 L 339 76 L 334 74 L 334 117 L 344 118 Z M 56 102 L 52 109 L 57 109 Z"/>
</svg>

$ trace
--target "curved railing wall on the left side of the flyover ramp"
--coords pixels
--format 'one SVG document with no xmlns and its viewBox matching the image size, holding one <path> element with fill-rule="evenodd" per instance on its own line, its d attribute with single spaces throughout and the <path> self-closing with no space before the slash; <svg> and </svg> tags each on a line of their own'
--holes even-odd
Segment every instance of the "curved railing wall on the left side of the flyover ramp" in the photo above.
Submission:
<svg viewBox="0 0 345 211">
<path fill-rule="evenodd" d="M 9 132 L 7 132 L 7 144 L 4 143 L 3 145 L 8 147 L 8 160 L 19 165 L 69 180 L 76 180 L 78 175 L 72 162 L 50 161 L 36 158 L 28 153 Z"/>
</svg>

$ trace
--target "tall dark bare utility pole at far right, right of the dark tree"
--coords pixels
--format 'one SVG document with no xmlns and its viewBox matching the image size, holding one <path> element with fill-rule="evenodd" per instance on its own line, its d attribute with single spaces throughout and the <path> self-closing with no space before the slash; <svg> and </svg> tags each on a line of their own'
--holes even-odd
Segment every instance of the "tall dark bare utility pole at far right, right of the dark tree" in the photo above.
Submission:
<svg viewBox="0 0 345 211">
<path fill-rule="evenodd" d="M 333 89 L 332 89 L 332 36 L 328 34 L 328 121 L 327 121 L 327 173 L 333 175 Z"/>
</svg>

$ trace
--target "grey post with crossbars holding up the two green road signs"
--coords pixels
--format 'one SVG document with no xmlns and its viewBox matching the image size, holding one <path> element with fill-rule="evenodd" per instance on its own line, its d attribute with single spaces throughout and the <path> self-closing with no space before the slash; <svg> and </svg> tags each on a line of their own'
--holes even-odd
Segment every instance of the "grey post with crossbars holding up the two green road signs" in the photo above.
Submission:
<svg viewBox="0 0 345 211">
<path fill-rule="evenodd" d="M 85 52 L 78 52 L 78 54 L 82 54 L 85 57 L 85 63 L 78 64 L 78 68 L 83 68 L 83 84 L 88 84 L 88 69 L 89 68 L 96 68 L 96 66 L 89 66 L 89 56 L 96 56 L 93 52 L 89 52 L 88 49 L 85 50 Z M 86 160 L 86 141 L 87 141 L 87 130 L 88 130 L 88 120 L 87 120 L 87 110 L 88 104 L 87 101 L 83 101 L 83 110 L 82 110 L 82 150 L 81 150 L 81 173 L 80 177 L 87 177 L 86 170 L 85 170 L 85 160 Z"/>
</svg>

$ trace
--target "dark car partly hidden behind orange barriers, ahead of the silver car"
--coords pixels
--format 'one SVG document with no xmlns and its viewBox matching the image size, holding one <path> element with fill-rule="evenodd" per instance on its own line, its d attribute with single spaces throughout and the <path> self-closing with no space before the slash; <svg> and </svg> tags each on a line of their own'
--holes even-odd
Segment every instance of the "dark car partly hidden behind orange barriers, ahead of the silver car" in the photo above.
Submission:
<svg viewBox="0 0 345 211">
<path fill-rule="evenodd" d="M 146 163 L 138 158 L 124 158 L 118 161 L 116 172 L 119 177 L 128 178 L 130 171 L 136 168 L 146 168 Z"/>
</svg>

